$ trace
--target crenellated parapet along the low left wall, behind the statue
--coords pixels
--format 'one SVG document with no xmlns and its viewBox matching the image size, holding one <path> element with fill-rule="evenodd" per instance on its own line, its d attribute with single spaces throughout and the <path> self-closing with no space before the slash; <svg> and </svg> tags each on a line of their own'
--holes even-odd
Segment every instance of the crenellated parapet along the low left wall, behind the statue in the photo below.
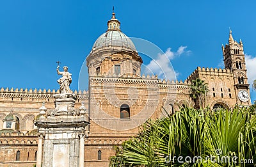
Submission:
<svg viewBox="0 0 256 167">
<path fill-rule="evenodd" d="M 54 95 L 60 93 L 59 90 L 42 90 L 42 89 L 34 89 L 31 88 L 1 88 L 0 89 L 0 100 L 10 100 L 10 101 L 35 101 L 35 102 L 53 102 Z M 88 91 L 72 91 L 81 100 L 88 99 Z"/>
</svg>

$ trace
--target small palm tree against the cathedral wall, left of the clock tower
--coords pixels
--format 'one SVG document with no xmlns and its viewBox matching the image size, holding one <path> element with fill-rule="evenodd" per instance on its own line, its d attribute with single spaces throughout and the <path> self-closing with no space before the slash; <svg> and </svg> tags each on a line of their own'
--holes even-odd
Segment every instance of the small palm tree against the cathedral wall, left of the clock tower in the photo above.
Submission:
<svg viewBox="0 0 256 167">
<path fill-rule="evenodd" d="M 209 91 L 207 83 L 205 81 L 196 78 L 191 81 L 190 87 L 190 97 L 195 102 L 195 107 L 199 109 L 205 104 L 205 95 Z"/>
</svg>

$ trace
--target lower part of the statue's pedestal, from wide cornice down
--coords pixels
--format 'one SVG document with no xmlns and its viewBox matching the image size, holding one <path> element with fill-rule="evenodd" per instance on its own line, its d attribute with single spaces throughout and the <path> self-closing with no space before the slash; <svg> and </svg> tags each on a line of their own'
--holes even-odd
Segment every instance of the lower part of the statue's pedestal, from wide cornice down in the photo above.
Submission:
<svg viewBox="0 0 256 167">
<path fill-rule="evenodd" d="M 79 166 L 81 135 L 86 133 L 86 118 L 40 118 L 38 133 L 44 134 L 43 166 Z"/>
</svg>

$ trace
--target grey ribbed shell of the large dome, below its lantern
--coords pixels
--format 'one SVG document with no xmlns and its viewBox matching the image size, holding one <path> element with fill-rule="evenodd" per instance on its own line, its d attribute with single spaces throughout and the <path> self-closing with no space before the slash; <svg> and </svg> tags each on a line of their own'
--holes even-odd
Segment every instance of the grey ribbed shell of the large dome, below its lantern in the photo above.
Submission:
<svg viewBox="0 0 256 167">
<path fill-rule="evenodd" d="M 109 30 L 99 36 L 92 47 L 92 51 L 104 47 L 122 47 L 124 50 L 136 51 L 132 40 L 118 29 Z"/>
</svg>

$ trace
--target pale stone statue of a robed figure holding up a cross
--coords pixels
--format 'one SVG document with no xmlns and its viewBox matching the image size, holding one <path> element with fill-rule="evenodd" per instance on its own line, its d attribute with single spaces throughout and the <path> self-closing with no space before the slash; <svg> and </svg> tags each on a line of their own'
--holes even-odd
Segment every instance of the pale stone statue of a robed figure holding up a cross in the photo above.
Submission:
<svg viewBox="0 0 256 167">
<path fill-rule="evenodd" d="M 69 72 L 68 72 L 68 67 L 64 66 L 63 72 L 60 72 L 59 70 L 60 66 L 58 65 L 57 67 L 57 73 L 59 75 L 62 75 L 62 77 L 60 79 L 58 79 L 58 83 L 60 84 L 60 93 L 71 93 L 71 90 L 69 88 L 70 83 L 72 82 L 72 78 Z"/>
</svg>

